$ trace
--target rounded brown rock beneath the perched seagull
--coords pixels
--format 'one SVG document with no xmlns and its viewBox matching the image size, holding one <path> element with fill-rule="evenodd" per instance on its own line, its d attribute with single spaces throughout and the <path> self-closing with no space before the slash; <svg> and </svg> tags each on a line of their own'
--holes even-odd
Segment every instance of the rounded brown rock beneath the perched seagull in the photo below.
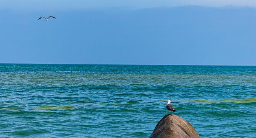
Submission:
<svg viewBox="0 0 256 138">
<path fill-rule="evenodd" d="M 200 138 L 196 129 L 177 115 L 165 115 L 156 125 L 150 138 Z"/>
</svg>

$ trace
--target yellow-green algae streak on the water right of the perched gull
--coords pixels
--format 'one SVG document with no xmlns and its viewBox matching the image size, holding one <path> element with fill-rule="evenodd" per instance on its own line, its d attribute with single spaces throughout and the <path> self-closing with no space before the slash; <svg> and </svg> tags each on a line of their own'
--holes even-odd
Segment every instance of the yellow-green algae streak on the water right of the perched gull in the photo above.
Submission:
<svg viewBox="0 0 256 138">
<path fill-rule="evenodd" d="M 213 104 L 213 103 L 220 103 L 220 102 L 231 102 L 231 103 L 251 103 L 256 102 L 255 98 L 249 98 L 249 99 L 222 99 L 222 100 L 180 100 L 180 101 L 173 101 L 173 102 L 198 102 L 198 103 L 207 103 L 207 104 Z"/>
</svg>

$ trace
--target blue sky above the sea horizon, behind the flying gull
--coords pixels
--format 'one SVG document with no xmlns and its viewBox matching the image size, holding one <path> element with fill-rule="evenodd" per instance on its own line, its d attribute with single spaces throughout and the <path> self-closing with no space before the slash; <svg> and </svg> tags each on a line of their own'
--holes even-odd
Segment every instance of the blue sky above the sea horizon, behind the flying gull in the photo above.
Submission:
<svg viewBox="0 0 256 138">
<path fill-rule="evenodd" d="M 255 7 L 252 0 L 0 0 L 0 63 L 256 65 Z"/>
</svg>

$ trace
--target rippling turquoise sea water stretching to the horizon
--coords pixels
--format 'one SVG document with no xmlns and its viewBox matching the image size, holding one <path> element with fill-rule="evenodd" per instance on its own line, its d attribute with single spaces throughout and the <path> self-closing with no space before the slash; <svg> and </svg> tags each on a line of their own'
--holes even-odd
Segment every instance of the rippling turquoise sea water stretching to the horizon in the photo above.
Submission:
<svg viewBox="0 0 256 138">
<path fill-rule="evenodd" d="M 146 138 L 178 110 L 202 138 L 256 137 L 256 66 L 0 64 L 0 137 Z"/>
</svg>

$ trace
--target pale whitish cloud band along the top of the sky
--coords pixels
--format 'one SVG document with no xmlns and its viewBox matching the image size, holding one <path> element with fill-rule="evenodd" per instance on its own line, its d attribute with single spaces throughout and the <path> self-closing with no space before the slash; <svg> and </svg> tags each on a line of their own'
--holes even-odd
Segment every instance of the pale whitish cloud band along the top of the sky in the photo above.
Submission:
<svg viewBox="0 0 256 138">
<path fill-rule="evenodd" d="M 0 0 L 0 9 L 10 10 L 84 10 L 92 8 L 176 7 L 256 7 L 256 0 Z"/>
</svg>

